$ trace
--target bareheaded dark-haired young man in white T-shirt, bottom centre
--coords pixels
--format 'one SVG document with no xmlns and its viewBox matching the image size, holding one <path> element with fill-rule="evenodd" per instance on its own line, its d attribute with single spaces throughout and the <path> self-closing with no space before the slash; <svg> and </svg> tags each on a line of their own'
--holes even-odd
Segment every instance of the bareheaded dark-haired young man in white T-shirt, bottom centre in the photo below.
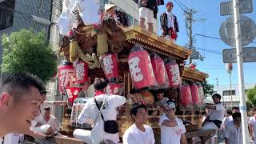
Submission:
<svg viewBox="0 0 256 144">
<path fill-rule="evenodd" d="M 130 108 L 130 115 L 134 124 L 130 126 L 122 137 L 123 144 L 154 144 L 154 132 L 147 121 L 146 106 L 134 103 Z"/>
</svg>

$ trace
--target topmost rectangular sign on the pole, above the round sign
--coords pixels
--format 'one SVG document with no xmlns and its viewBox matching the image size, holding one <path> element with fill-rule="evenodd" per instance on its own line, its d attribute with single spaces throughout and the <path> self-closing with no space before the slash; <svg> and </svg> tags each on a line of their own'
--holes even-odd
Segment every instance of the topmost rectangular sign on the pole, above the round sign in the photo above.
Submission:
<svg viewBox="0 0 256 144">
<path fill-rule="evenodd" d="M 239 0 L 239 12 L 240 14 L 253 12 L 252 0 Z M 221 2 L 220 14 L 222 16 L 233 14 L 233 2 Z"/>
</svg>

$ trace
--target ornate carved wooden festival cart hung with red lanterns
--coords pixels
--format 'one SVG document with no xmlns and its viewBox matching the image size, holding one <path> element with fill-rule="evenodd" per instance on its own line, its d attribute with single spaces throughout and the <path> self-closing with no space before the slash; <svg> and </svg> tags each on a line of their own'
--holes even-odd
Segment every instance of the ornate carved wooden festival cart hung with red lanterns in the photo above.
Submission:
<svg viewBox="0 0 256 144">
<path fill-rule="evenodd" d="M 112 83 L 122 85 L 121 87 L 114 87 L 116 89 L 110 88 L 110 93 L 122 94 L 124 96 L 130 94 L 130 90 L 134 90 L 136 88 L 136 82 L 134 82 L 133 74 L 130 73 L 131 58 L 129 56 L 131 51 L 133 51 L 134 46 L 140 46 L 140 48 L 143 48 L 143 50 L 145 50 L 148 54 L 158 54 L 159 58 L 171 58 L 174 60 L 176 66 L 175 70 L 178 70 L 178 74 L 173 74 L 173 76 L 176 75 L 176 77 L 178 77 L 178 86 L 184 86 L 184 90 L 189 90 L 186 88 L 190 87 L 191 83 L 194 82 L 193 84 L 198 84 L 199 82 L 204 82 L 208 77 L 208 74 L 202 73 L 198 70 L 192 70 L 189 67 L 184 66 L 184 62 L 192 53 L 191 50 L 178 46 L 177 44 L 169 42 L 164 38 L 158 37 L 156 34 L 142 30 L 138 26 L 120 27 L 116 26 L 115 22 L 108 21 L 105 23 L 103 22 L 102 26 L 98 29 L 95 28 L 95 26 L 85 26 L 80 23 L 76 30 L 70 32 L 69 37 L 63 38 L 63 43 L 61 46 L 61 51 L 64 52 L 64 57 L 66 61 L 68 61 L 67 63 L 71 65 L 71 68 L 63 68 L 63 66 L 59 67 L 59 85 L 60 89 L 65 88 L 66 93 L 64 92 L 63 94 L 68 95 L 69 104 L 74 102 L 74 98 L 76 98 L 78 95 L 75 94 L 78 92 L 78 90 L 75 92 L 74 87 L 78 87 L 80 88 L 79 90 L 86 91 L 88 86 L 93 83 L 94 78 L 109 77 L 106 75 L 106 65 L 104 65 L 103 62 L 104 58 L 106 58 L 106 54 L 115 54 L 117 56 L 118 77 L 112 79 L 110 78 L 110 81 L 112 81 Z M 73 62 L 73 64 L 70 62 Z M 79 75 L 78 71 L 76 71 L 74 75 L 71 73 L 66 74 L 65 72 L 63 73 L 62 70 L 72 71 L 74 69 L 74 71 L 79 70 L 81 72 L 81 67 L 80 69 L 76 69 L 78 65 L 74 65 L 74 63 L 77 64 L 78 62 L 85 62 L 87 67 L 83 67 L 82 69 L 83 74 L 82 78 L 80 78 L 81 81 L 73 82 L 73 80 L 78 81 L 78 77 L 81 77 L 81 74 Z M 110 62 L 110 64 L 112 63 Z M 144 67 L 140 68 L 143 69 Z M 174 73 L 174 71 L 172 72 Z M 168 76 L 171 77 L 169 74 Z M 66 82 L 66 80 L 68 80 L 68 82 Z M 171 81 L 172 78 L 169 78 L 169 80 Z M 141 94 L 142 100 L 144 100 L 149 107 L 149 120 L 147 125 L 154 129 L 156 143 L 160 143 L 160 127 L 158 126 L 158 119 L 161 114 L 163 114 L 163 110 L 160 107 L 154 106 L 154 92 L 157 88 L 157 86 L 140 87 L 138 93 Z M 114 92 L 114 90 L 117 91 Z M 174 82 L 172 83 L 172 86 L 170 85 L 165 87 L 165 90 L 166 97 L 174 99 L 174 101 L 178 103 L 178 118 L 181 118 L 184 122 L 189 123 L 186 124 L 186 138 L 190 140 L 194 137 L 214 134 L 214 130 L 200 130 L 200 128 L 202 128 L 203 94 L 201 94 L 201 99 L 199 96 L 199 99 L 196 99 L 198 100 L 199 105 L 194 105 L 192 101 L 193 98 L 186 98 L 190 97 L 193 91 L 187 93 L 190 95 L 182 94 L 183 89 L 180 89 L 179 87 L 174 88 Z M 88 91 L 86 91 L 85 94 L 86 96 L 88 95 L 87 92 Z M 198 93 L 200 93 L 200 90 Z M 118 110 L 118 124 L 120 128 L 119 135 L 121 139 L 125 130 L 132 125 L 129 109 L 130 103 L 126 103 L 125 106 Z M 78 104 L 75 102 L 72 112 L 69 112 L 67 106 L 64 106 L 62 130 L 60 132 L 67 137 L 55 137 L 52 138 L 52 141 L 62 144 L 83 143 L 75 138 L 72 138 L 73 130 L 77 127 L 82 127 L 78 125 L 74 119 L 77 118 L 79 111 L 81 110 L 82 105 L 78 106 Z M 84 128 L 89 127 L 84 126 Z"/>
</svg>

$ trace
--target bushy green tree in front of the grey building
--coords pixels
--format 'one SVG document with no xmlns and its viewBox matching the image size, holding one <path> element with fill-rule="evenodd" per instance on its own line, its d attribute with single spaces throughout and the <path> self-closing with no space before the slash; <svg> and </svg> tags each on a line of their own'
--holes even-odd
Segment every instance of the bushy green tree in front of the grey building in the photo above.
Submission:
<svg viewBox="0 0 256 144">
<path fill-rule="evenodd" d="M 34 34 L 31 30 L 13 32 L 2 36 L 3 72 L 26 71 L 38 75 L 47 82 L 57 69 L 57 57 L 45 37 L 44 32 Z"/>
</svg>

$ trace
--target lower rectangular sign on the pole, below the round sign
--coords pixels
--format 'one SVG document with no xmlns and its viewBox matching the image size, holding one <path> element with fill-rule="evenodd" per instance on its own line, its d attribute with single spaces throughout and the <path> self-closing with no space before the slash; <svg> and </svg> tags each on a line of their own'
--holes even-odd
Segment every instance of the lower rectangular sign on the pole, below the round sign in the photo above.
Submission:
<svg viewBox="0 0 256 144">
<path fill-rule="evenodd" d="M 224 49 L 222 50 L 224 63 L 236 63 L 237 52 L 236 49 Z M 244 47 L 242 48 L 243 62 L 256 62 L 256 47 Z"/>
</svg>

